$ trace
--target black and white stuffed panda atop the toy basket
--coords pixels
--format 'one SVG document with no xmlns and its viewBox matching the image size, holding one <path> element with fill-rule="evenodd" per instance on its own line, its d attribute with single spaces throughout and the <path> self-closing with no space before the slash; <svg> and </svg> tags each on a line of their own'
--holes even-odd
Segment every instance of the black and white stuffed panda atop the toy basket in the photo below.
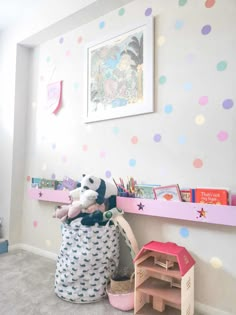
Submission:
<svg viewBox="0 0 236 315">
<path fill-rule="evenodd" d="M 80 182 L 80 192 L 83 194 L 86 190 L 93 190 L 98 193 L 96 203 L 101 205 L 107 200 L 109 209 L 116 206 L 117 188 L 114 184 L 93 175 L 83 175 Z"/>
</svg>

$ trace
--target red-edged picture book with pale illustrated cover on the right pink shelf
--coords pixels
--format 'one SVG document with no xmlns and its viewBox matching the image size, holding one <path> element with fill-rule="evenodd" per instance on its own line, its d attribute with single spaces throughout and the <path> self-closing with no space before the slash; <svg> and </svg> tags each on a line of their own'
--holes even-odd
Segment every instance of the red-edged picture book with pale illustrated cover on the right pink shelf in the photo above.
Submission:
<svg viewBox="0 0 236 315">
<path fill-rule="evenodd" d="M 179 185 L 160 186 L 153 188 L 155 199 L 164 201 L 182 201 Z"/>
</svg>

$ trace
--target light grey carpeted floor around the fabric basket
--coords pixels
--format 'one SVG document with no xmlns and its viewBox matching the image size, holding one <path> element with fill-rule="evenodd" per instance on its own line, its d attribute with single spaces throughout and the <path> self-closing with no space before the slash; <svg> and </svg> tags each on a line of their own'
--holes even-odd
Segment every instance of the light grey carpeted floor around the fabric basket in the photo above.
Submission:
<svg viewBox="0 0 236 315">
<path fill-rule="evenodd" d="M 129 315 L 113 308 L 107 299 L 73 304 L 54 294 L 55 261 L 26 251 L 0 255 L 1 315 Z M 155 312 L 158 314 L 158 312 Z M 162 313 L 163 314 L 163 313 Z M 173 309 L 165 312 L 175 315 Z M 151 315 L 151 314 L 148 314 Z"/>
</svg>

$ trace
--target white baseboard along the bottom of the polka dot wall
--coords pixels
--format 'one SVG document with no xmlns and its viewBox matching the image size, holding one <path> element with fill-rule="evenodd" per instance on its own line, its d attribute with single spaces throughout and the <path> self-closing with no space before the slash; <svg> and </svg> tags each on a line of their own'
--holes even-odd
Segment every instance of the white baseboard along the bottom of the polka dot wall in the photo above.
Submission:
<svg viewBox="0 0 236 315">
<path fill-rule="evenodd" d="M 11 245 L 8 247 L 8 249 L 9 251 L 16 250 L 16 249 L 23 249 L 39 256 L 43 256 L 52 260 L 57 260 L 57 254 L 51 253 L 44 249 L 40 249 L 38 247 L 27 245 L 27 244 L 19 243 L 19 244 Z M 194 305 L 195 305 L 196 312 L 198 312 L 201 315 L 233 315 L 232 313 L 228 313 L 220 309 L 216 309 L 214 307 L 199 303 L 197 301 L 195 301 Z"/>
</svg>

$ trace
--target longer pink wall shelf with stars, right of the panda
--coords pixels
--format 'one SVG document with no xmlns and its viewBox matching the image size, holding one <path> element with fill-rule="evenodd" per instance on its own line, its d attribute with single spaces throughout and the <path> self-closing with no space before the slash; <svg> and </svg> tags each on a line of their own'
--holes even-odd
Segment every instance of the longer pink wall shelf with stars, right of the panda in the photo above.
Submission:
<svg viewBox="0 0 236 315">
<path fill-rule="evenodd" d="M 117 208 L 127 213 L 236 226 L 236 206 L 117 197 Z"/>
</svg>

